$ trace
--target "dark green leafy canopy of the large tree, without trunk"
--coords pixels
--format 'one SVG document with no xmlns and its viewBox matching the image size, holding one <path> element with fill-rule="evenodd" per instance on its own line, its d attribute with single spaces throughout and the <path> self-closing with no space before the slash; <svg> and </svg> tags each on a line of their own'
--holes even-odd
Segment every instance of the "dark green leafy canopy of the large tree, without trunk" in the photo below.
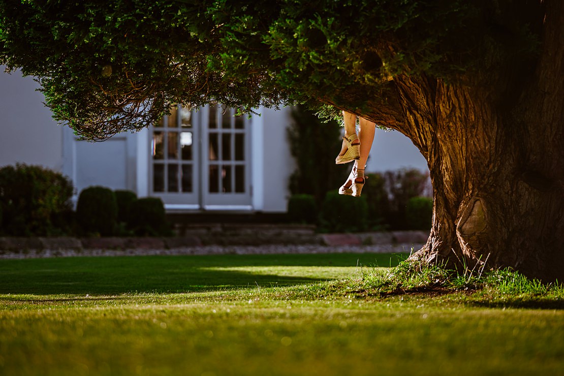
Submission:
<svg viewBox="0 0 564 376">
<path fill-rule="evenodd" d="M 362 110 L 400 74 L 456 79 L 507 38 L 513 54 L 533 51 L 535 25 L 501 17 L 522 3 L 0 0 L 0 63 L 36 77 L 55 119 L 85 138 L 141 129 L 177 103 Z"/>
</svg>

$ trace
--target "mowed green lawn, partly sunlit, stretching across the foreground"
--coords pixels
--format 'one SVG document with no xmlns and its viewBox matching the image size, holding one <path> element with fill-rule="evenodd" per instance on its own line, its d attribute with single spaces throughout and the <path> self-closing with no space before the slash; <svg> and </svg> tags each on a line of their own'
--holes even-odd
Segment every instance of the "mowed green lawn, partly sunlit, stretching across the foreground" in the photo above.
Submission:
<svg viewBox="0 0 564 376">
<path fill-rule="evenodd" d="M 564 374 L 562 302 L 525 309 L 464 291 L 380 296 L 347 287 L 397 262 L 376 254 L 0 260 L 0 375 Z"/>
</svg>

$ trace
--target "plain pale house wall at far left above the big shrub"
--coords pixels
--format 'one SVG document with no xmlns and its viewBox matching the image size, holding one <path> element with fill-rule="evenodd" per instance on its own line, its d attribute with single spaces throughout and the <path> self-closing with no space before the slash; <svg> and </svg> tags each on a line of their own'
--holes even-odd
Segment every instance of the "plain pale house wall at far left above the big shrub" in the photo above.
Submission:
<svg viewBox="0 0 564 376">
<path fill-rule="evenodd" d="M 0 166 L 16 162 L 61 171 L 63 126 L 43 105 L 39 85 L 0 65 Z"/>
</svg>

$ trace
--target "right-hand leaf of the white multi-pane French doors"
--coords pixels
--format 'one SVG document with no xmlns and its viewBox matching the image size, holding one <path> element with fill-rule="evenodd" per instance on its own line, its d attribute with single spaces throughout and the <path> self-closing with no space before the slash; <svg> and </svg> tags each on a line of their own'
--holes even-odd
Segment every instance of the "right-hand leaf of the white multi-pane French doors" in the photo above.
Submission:
<svg viewBox="0 0 564 376">
<path fill-rule="evenodd" d="M 236 109 L 202 110 L 202 204 L 204 209 L 243 209 L 252 204 L 250 121 Z"/>
</svg>

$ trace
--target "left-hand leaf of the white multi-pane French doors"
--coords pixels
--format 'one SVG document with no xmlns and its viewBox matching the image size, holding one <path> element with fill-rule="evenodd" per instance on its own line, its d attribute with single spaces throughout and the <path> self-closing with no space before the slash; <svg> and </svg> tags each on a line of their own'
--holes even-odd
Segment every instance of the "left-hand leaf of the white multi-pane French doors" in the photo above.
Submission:
<svg viewBox="0 0 564 376">
<path fill-rule="evenodd" d="M 153 127 L 152 193 L 165 204 L 199 206 L 199 119 L 178 106 Z"/>
</svg>

